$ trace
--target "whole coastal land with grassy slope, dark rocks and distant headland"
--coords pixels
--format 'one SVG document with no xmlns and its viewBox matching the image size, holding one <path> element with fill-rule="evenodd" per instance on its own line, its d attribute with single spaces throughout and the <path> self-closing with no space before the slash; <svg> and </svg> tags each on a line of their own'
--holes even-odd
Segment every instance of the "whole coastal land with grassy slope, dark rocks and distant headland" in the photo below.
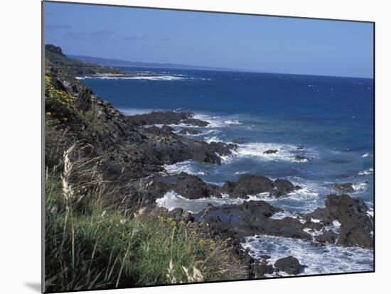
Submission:
<svg viewBox="0 0 391 294">
<path fill-rule="evenodd" d="M 171 211 L 158 207 L 156 200 L 168 192 L 191 200 L 250 200 L 249 195 L 259 193 L 270 198 L 289 197 L 289 193 L 301 187 L 286 179 L 272 180 L 263 175 L 242 175 L 236 182 L 225 181 L 219 186 L 187 173 L 169 174 L 164 165 L 184 160 L 220 165 L 221 158 L 235 152 L 237 144 L 207 143 L 174 131 L 170 125 L 208 126 L 208 121 L 196 119 L 191 112 L 154 111 L 125 116 L 76 78 L 124 72 L 72 60 L 53 45 L 46 45 L 45 53 L 45 269 L 49 289 L 86 288 L 85 282 L 76 283 L 77 272 L 72 274 L 76 281 L 73 285 L 65 276 L 55 276 L 55 271 L 65 270 L 63 263 L 76 267 L 75 255 L 70 254 L 75 250 L 80 254 L 80 262 L 85 261 L 83 266 L 89 259 L 87 254 L 97 251 L 94 263 L 84 268 L 91 275 L 101 274 L 108 266 L 117 275 L 107 275 L 105 283 L 95 283 L 92 276 L 88 288 L 114 288 L 301 273 L 301 265 L 292 256 L 274 264 L 268 263 L 267 256 L 254 258 L 242 246 L 247 236 L 278 236 L 309 241 L 314 246 L 336 244 L 373 249 L 373 217 L 362 201 L 348 195 L 328 195 L 326 207 L 282 219 L 273 216 L 283 209 L 262 200 L 208 205 L 198 214 L 181 207 Z M 68 224 L 69 219 L 74 222 Z M 103 231 L 102 227 L 94 227 L 101 222 Z M 56 232 L 61 227 L 69 233 L 68 239 L 58 239 Z M 100 233 L 92 234 L 91 228 Z M 159 232 L 154 228 L 159 228 Z M 76 249 L 75 232 L 80 241 Z M 132 243 L 129 234 L 140 236 Z M 169 244 L 164 234 L 175 236 L 176 244 Z M 144 241 L 153 244 L 152 248 L 168 241 L 167 250 L 172 251 L 174 246 L 176 254 L 167 255 L 157 249 L 141 252 Z M 70 246 L 69 252 L 59 251 L 62 243 Z M 117 256 L 113 257 L 111 250 Z M 159 254 L 163 257 L 156 261 Z M 59 255 L 63 263 L 56 261 Z M 134 257 L 134 265 L 129 256 L 139 256 Z M 123 260 L 122 264 L 116 258 Z M 154 271 L 145 278 L 148 266 Z M 190 274 L 182 266 L 195 269 Z M 216 273 L 217 268 L 223 271 Z"/>
</svg>

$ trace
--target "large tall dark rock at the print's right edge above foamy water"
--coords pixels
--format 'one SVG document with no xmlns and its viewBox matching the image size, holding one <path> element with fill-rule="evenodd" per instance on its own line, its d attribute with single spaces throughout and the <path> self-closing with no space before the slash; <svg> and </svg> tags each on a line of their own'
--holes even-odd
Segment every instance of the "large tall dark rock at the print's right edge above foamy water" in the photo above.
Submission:
<svg viewBox="0 0 391 294">
<path fill-rule="evenodd" d="M 341 223 L 337 245 L 373 249 L 373 217 L 362 200 L 348 195 L 328 195 L 326 212 Z"/>
</svg>

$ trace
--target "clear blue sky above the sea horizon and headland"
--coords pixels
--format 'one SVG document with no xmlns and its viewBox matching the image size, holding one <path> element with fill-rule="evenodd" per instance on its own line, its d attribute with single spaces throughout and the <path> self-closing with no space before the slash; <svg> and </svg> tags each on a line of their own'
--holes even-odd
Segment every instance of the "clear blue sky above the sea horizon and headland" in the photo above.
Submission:
<svg viewBox="0 0 391 294">
<path fill-rule="evenodd" d="M 134 62 L 373 77 L 372 23 L 46 2 L 45 43 Z"/>
</svg>

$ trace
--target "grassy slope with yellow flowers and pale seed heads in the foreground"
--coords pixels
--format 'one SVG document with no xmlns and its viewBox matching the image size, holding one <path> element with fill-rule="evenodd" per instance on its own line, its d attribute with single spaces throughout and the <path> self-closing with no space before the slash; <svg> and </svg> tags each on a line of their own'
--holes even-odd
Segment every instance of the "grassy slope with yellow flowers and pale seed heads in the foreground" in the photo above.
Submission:
<svg viewBox="0 0 391 294">
<path fill-rule="evenodd" d="M 93 146 L 67 127 L 91 119 L 54 80 L 45 78 L 45 290 L 245 278 L 224 241 L 122 204 L 125 184 L 107 180 L 102 158 L 88 156 Z"/>
</svg>

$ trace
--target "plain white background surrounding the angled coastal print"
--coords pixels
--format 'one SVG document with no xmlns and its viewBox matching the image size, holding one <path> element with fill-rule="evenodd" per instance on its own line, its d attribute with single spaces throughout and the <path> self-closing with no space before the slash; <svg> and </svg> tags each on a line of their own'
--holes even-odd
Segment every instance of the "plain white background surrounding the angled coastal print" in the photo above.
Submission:
<svg viewBox="0 0 391 294">
<path fill-rule="evenodd" d="M 88 293 L 370 293 L 390 265 L 390 9 L 387 1 L 98 0 L 166 7 L 376 22 L 376 273 Z M 41 281 L 41 1 L 1 4 L 1 293 L 38 293 Z M 338 265 L 336 265 L 338 266 Z M 388 287 L 387 287 L 388 288 Z"/>
</svg>

